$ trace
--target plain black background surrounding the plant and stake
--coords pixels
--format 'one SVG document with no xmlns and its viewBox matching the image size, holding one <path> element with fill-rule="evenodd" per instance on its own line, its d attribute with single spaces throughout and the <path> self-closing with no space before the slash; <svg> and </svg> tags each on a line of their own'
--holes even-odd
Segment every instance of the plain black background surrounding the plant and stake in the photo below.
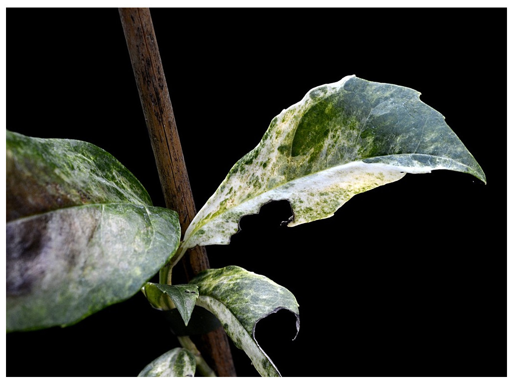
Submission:
<svg viewBox="0 0 513 385">
<path fill-rule="evenodd" d="M 329 219 L 244 217 L 229 264 L 287 287 L 257 326 L 283 376 L 506 375 L 505 9 L 152 9 L 196 206 L 272 118 L 345 75 L 422 92 L 487 185 L 434 171 L 365 192 Z M 8 9 L 7 128 L 89 141 L 164 206 L 117 9 Z M 141 293 L 69 328 L 7 335 L 8 376 L 136 376 L 175 347 Z M 239 376 L 258 376 L 232 348 Z"/>
</svg>

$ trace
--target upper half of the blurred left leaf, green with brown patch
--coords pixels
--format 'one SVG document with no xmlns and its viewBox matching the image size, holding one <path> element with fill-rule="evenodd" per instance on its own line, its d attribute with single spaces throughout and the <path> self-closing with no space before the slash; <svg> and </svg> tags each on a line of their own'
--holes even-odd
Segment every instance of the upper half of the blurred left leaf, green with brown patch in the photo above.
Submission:
<svg viewBox="0 0 513 385">
<path fill-rule="evenodd" d="M 7 221 L 94 203 L 151 206 L 143 185 L 91 143 L 32 138 L 7 130 Z"/>
</svg>

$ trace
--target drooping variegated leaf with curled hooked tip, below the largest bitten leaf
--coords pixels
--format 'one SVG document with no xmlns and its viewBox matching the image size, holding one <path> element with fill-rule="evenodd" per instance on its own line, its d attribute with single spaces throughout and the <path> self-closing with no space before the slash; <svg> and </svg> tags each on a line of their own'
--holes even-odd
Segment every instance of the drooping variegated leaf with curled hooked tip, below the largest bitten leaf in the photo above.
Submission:
<svg viewBox="0 0 513 385">
<path fill-rule="evenodd" d="M 299 332 L 299 305 L 293 294 L 269 278 L 238 266 L 205 270 L 190 283 L 197 284 L 200 290 L 196 304 L 218 317 L 226 334 L 246 352 L 260 375 L 280 376 L 254 332 L 259 320 L 281 309 L 295 314 Z"/>
</svg>

